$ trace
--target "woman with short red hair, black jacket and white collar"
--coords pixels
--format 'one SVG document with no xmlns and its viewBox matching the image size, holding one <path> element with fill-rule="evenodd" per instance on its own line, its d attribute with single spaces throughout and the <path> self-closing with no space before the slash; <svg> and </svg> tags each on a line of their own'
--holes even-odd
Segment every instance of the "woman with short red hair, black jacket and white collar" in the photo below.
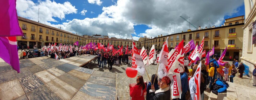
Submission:
<svg viewBox="0 0 256 100">
<path fill-rule="evenodd" d="M 169 100 L 171 96 L 170 83 L 170 78 L 164 76 L 161 79 L 159 90 L 155 90 L 155 87 L 152 85 L 151 90 L 149 90 L 149 100 Z"/>
</svg>

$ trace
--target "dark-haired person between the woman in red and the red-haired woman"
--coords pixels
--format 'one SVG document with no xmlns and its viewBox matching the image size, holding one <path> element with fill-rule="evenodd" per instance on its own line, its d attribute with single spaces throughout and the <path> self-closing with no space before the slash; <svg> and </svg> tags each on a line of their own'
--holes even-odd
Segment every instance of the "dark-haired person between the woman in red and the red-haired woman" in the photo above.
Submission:
<svg viewBox="0 0 256 100">
<path fill-rule="evenodd" d="M 156 77 L 156 79 L 155 79 L 155 77 Z M 155 80 L 155 81 L 154 81 L 154 80 Z M 151 82 L 154 83 L 155 90 L 158 90 L 158 89 L 159 89 L 159 87 L 158 87 L 159 85 L 157 84 L 157 83 L 158 83 L 158 76 L 157 76 L 157 75 L 153 74 L 153 75 L 151 76 Z M 146 100 L 149 100 L 149 90 L 151 89 L 151 85 L 152 85 L 151 82 L 148 82 L 148 84 L 147 84 Z"/>
</svg>

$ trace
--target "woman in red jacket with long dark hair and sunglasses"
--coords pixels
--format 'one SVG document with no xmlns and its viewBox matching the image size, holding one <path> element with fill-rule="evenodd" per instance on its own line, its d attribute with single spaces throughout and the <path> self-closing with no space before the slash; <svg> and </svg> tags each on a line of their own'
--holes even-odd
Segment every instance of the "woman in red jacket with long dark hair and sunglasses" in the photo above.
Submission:
<svg viewBox="0 0 256 100">
<path fill-rule="evenodd" d="M 132 87 L 131 84 L 129 84 L 130 87 L 130 96 L 132 97 L 132 100 L 144 100 L 144 92 L 146 92 L 146 84 L 144 83 L 143 77 L 138 76 L 136 79 L 137 84 Z"/>
</svg>

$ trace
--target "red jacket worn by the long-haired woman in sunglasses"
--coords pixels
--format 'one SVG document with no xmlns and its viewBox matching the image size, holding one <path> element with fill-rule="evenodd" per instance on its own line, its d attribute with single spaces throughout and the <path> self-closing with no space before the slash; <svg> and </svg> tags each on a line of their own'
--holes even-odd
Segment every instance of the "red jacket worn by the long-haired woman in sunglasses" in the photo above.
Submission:
<svg viewBox="0 0 256 100">
<path fill-rule="evenodd" d="M 146 92 L 146 84 L 145 84 L 144 90 L 142 90 L 142 87 L 140 87 L 139 85 L 130 87 L 130 96 L 132 97 L 132 100 L 145 100 L 144 98 L 145 92 Z"/>
</svg>

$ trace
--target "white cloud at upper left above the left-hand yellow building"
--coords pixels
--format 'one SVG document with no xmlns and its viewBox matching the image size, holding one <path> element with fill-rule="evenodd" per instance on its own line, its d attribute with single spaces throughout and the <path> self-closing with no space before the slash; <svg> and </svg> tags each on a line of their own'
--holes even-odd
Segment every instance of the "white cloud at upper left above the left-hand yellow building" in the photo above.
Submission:
<svg viewBox="0 0 256 100">
<path fill-rule="evenodd" d="M 58 22 L 53 17 L 65 19 L 65 15 L 77 13 L 75 6 L 72 6 L 70 2 L 64 2 L 63 4 L 51 2 L 38 1 L 39 2 L 39 21 L 40 23 L 47 23 L 49 21 Z M 35 4 L 31 0 L 17 0 L 16 9 L 18 16 L 25 17 L 34 21 L 38 21 L 38 4 Z"/>
</svg>

